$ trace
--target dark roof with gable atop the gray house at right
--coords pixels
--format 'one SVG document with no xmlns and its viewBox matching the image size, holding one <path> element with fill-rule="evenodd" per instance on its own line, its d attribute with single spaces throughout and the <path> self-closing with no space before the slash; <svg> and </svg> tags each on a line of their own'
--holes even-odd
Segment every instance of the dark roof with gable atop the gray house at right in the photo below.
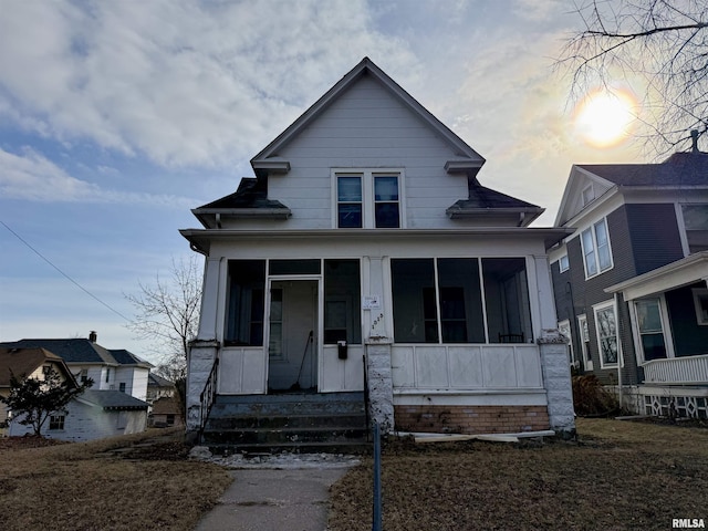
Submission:
<svg viewBox="0 0 708 531">
<path fill-rule="evenodd" d="M 656 190 L 708 187 L 708 153 L 675 153 L 660 164 L 576 164 L 571 168 L 563 199 L 555 218 L 556 226 L 568 223 L 584 210 L 577 197 L 584 184 L 594 183 L 600 194 L 622 188 L 654 188 Z M 594 206 L 597 200 L 587 206 Z"/>
</svg>

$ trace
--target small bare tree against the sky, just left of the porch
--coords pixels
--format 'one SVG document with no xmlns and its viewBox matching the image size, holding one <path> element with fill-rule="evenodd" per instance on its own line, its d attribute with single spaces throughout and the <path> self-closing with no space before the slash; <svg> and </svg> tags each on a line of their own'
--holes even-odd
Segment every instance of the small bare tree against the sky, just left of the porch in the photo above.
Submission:
<svg viewBox="0 0 708 531">
<path fill-rule="evenodd" d="M 153 340 L 163 356 L 157 373 L 176 382 L 185 377 L 189 342 L 197 336 L 201 303 L 201 266 L 196 257 L 173 258 L 167 280 L 159 274 L 153 285 L 138 283 L 137 295 L 126 294 L 136 310 L 128 327 Z"/>
</svg>

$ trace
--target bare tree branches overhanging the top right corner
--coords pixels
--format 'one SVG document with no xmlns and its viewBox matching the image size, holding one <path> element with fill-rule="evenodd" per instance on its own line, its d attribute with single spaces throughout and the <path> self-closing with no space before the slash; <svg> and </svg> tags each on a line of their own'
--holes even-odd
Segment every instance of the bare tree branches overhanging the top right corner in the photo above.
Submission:
<svg viewBox="0 0 708 531">
<path fill-rule="evenodd" d="M 573 96 L 597 83 L 641 76 L 643 132 L 649 147 L 687 147 L 708 129 L 708 3 L 705 0 L 581 0 L 583 30 L 558 65 L 573 76 Z"/>
</svg>

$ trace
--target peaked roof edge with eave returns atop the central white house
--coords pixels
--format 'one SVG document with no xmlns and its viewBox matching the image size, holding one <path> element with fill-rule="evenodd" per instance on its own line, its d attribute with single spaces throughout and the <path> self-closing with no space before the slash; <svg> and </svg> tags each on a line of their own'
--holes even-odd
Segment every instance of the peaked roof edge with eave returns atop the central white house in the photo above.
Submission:
<svg viewBox="0 0 708 531">
<path fill-rule="evenodd" d="M 448 162 L 446 167 L 449 171 L 467 171 L 479 169 L 485 159 L 475 149 L 472 149 L 465 140 L 450 131 L 442 122 L 436 118 L 429 111 L 420 105 L 410 94 L 392 80 L 383 70 L 374 64 L 374 62 L 364 58 L 356 66 L 344 75 L 332 88 L 330 88 L 320 100 L 317 100 L 308 111 L 305 111 L 295 122 L 283 131 L 273 142 L 266 146 L 258 155 L 251 159 L 253 170 L 287 173 L 289 163 L 279 158 L 280 150 L 291 142 L 292 138 L 308 127 L 323 111 L 325 111 L 332 102 L 334 102 L 342 93 L 354 85 L 362 76 L 369 75 L 376 80 L 384 88 L 386 88 L 397 101 L 415 113 L 424 123 L 426 123 L 437 135 L 446 142 L 456 156 L 454 160 Z"/>
</svg>

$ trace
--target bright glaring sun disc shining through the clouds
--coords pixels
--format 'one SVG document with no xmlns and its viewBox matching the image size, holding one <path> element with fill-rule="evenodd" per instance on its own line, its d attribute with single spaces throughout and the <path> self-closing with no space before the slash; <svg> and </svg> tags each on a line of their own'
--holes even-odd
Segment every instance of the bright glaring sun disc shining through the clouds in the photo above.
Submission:
<svg viewBox="0 0 708 531">
<path fill-rule="evenodd" d="M 575 131 L 595 147 L 612 147 L 627 139 L 636 119 L 636 100 L 625 91 L 590 93 L 575 111 Z"/>
</svg>

